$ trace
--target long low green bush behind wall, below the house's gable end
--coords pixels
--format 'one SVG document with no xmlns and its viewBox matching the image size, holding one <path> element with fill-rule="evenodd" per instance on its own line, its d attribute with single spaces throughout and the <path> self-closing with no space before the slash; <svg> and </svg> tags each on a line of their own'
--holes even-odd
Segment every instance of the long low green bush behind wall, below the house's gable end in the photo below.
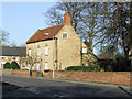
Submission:
<svg viewBox="0 0 132 99">
<path fill-rule="evenodd" d="M 70 66 L 65 68 L 66 70 L 84 70 L 84 72 L 92 72 L 96 67 L 86 67 L 86 66 Z"/>
</svg>

